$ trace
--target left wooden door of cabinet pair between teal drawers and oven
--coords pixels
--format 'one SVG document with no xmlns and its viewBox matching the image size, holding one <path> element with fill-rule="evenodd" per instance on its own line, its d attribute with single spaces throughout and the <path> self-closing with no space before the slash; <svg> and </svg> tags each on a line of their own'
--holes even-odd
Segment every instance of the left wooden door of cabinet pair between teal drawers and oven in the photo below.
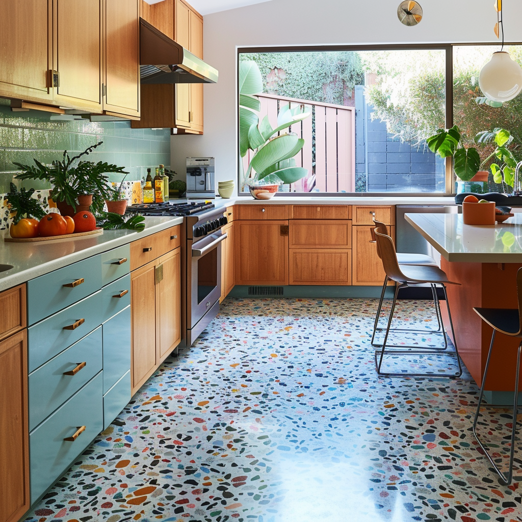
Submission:
<svg viewBox="0 0 522 522">
<path fill-rule="evenodd" d="M 156 263 L 131 272 L 132 393 L 156 367 Z"/>
</svg>

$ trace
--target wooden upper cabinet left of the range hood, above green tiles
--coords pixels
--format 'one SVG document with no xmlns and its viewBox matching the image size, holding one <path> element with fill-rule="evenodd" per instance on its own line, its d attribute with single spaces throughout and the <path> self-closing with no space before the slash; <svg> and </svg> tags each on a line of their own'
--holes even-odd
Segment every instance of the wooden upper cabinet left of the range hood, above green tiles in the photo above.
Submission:
<svg viewBox="0 0 522 522">
<path fill-rule="evenodd" d="M 6 3 L 0 96 L 139 116 L 138 7 L 138 0 Z"/>
</svg>

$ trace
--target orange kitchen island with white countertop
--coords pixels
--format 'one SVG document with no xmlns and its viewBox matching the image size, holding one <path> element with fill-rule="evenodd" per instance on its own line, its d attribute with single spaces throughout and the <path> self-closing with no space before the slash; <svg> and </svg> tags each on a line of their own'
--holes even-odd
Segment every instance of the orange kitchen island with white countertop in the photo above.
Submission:
<svg viewBox="0 0 522 522">
<path fill-rule="evenodd" d="M 522 266 L 522 214 L 502 224 L 465 225 L 461 214 L 406 214 L 406 220 L 441 253 L 450 281 L 448 298 L 460 356 L 480 386 L 492 328 L 473 307 L 517 308 L 516 273 Z M 497 335 L 485 389 L 492 404 L 512 401 L 516 338 Z M 499 353 L 502 355 L 499 356 Z"/>
</svg>

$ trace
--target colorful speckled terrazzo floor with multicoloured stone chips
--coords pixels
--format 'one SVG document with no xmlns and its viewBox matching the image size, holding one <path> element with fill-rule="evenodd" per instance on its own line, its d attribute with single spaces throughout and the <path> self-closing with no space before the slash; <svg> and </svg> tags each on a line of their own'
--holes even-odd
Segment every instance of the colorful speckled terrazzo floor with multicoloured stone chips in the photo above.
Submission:
<svg viewBox="0 0 522 522">
<path fill-rule="evenodd" d="M 227 299 L 27 520 L 522 520 L 518 483 L 502 487 L 476 450 L 476 384 L 466 372 L 378 378 L 375 308 L 373 299 Z M 434 325 L 424 301 L 399 302 L 398 317 L 396 326 Z M 511 426 L 496 418 L 497 429 Z"/>
</svg>

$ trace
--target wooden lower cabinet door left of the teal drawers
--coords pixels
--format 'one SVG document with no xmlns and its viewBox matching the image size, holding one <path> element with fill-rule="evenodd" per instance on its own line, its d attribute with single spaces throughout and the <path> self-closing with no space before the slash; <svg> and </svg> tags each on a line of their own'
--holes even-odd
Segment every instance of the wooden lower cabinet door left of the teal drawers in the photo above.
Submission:
<svg viewBox="0 0 522 522">
<path fill-rule="evenodd" d="M 29 429 L 26 330 L 0 342 L 0 520 L 29 509 Z"/>
</svg>

